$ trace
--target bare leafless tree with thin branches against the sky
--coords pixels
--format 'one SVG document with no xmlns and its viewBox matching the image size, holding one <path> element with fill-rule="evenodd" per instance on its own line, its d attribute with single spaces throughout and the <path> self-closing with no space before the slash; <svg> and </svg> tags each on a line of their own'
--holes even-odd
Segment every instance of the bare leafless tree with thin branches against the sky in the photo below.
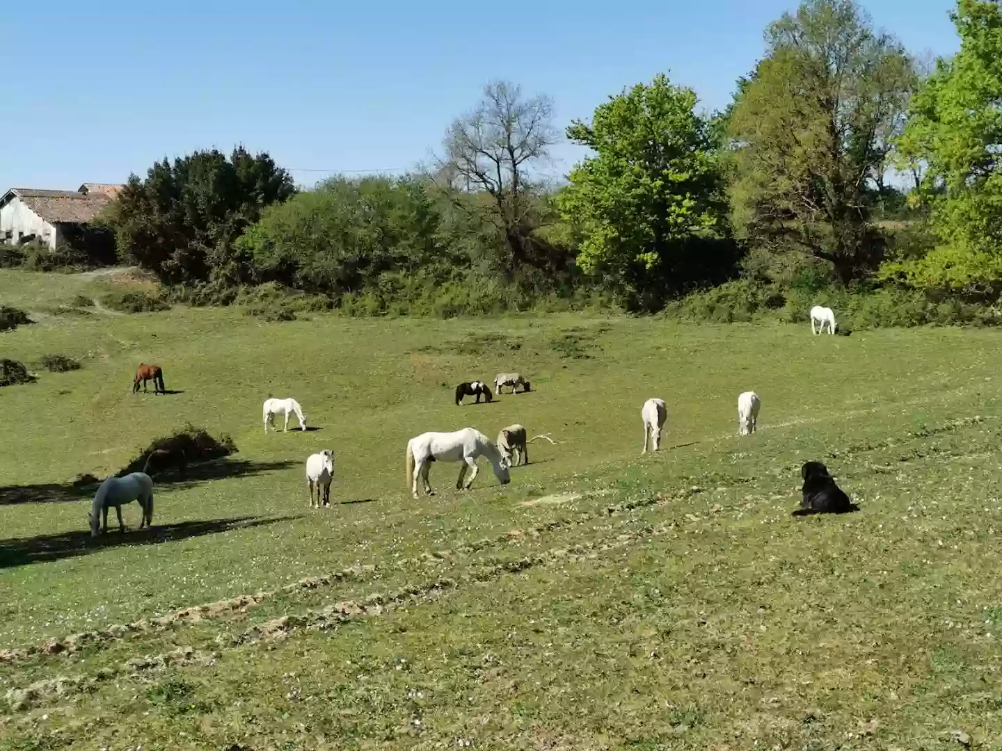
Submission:
<svg viewBox="0 0 1002 751">
<path fill-rule="evenodd" d="M 521 87 L 492 81 L 483 99 L 446 132 L 438 177 L 460 195 L 456 206 L 490 223 L 504 240 L 502 263 L 509 277 L 520 266 L 559 265 L 553 249 L 534 234 L 541 223 L 537 193 L 543 180 L 535 168 L 549 158 L 557 141 L 553 103 L 547 96 L 525 97 Z M 463 193 L 482 192 L 486 200 Z"/>
</svg>

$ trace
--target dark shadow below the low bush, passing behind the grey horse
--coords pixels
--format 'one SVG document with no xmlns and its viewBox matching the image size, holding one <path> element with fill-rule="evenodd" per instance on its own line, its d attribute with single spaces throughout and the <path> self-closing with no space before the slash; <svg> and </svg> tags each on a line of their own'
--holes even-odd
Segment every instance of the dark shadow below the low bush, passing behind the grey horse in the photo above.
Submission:
<svg viewBox="0 0 1002 751">
<path fill-rule="evenodd" d="M 152 473 L 153 494 L 157 487 L 190 488 L 198 483 L 224 478 L 241 478 L 261 475 L 266 472 L 279 472 L 291 467 L 298 467 L 301 462 L 286 460 L 282 462 L 250 462 L 247 460 L 217 459 L 188 465 L 183 477 L 176 469 L 166 469 Z M 14 504 L 65 504 L 81 499 L 93 498 L 97 492 L 97 483 L 76 485 L 72 483 L 41 483 L 38 485 L 11 485 L 0 488 L 0 506 Z"/>
</svg>

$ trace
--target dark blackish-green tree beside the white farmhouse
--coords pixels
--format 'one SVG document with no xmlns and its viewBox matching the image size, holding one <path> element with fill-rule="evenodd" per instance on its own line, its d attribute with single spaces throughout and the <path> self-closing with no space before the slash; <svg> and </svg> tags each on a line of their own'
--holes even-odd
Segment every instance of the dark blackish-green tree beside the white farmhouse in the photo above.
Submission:
<svg viewBox="0 0 1002 751">
<path fill-rule="evenodd" d="M 227 159 L 219 151 L 197 151 L 173 164 L 164 159 L 136 175 L 109 207 L 119 252 L 162 281 L 226 275 L 232 243 L 262 210 L 296 192 L 289 173 L 267 153 L 242 147 Z"/>
</svg>

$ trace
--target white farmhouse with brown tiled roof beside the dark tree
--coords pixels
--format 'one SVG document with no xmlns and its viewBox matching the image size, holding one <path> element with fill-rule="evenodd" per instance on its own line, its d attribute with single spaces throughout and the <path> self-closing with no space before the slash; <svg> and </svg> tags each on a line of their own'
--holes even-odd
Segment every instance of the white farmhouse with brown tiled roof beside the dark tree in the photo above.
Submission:
<svg viewBox="0 0 1002 751">
<path fill-rule="evenodd" d="M 11 188 L 0 198 L 0 242 L 38 240 L 55 249 L 93 221 L 122 187 L 85 182 L 76 190 Z"/>
</svg>

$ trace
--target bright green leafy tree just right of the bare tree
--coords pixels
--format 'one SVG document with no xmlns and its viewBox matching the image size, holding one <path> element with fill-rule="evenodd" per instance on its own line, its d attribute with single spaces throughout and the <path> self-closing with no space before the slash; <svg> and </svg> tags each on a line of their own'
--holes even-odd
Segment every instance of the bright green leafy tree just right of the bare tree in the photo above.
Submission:
<svg viewBox="0 0 1002 751">
<path fill-rule="evenodd" d="M 657 307 L 707 267 L 732 266 L 707 242 L 719 237 L 725 206 L 714 129 L 695 104 L 691 89 L 662 74 L 609 97 L 590 124 L 567 128 L 595 153 L 557 195 L 583 235 L 578 265 L 601 274 L 628 307 Z"/>
</svg>

